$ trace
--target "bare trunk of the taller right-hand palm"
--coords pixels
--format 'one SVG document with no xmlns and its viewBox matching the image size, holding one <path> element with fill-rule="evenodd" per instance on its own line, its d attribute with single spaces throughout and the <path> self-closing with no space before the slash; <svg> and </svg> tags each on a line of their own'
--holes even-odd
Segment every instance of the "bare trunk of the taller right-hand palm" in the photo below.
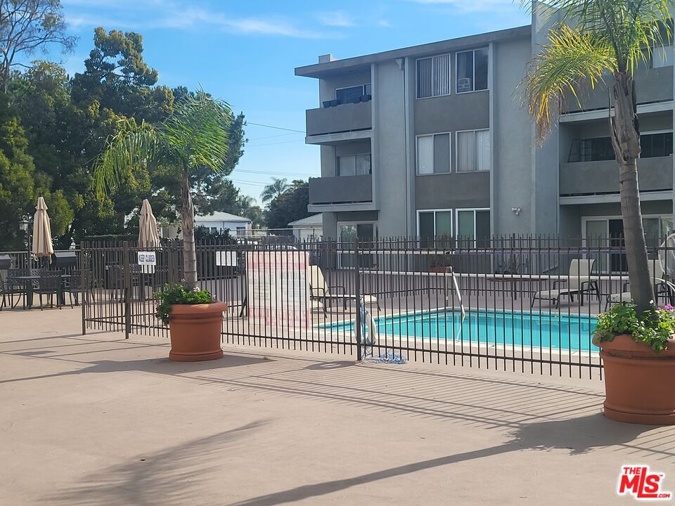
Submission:
<svg viewBox="0 0 675 506">
<path fill-rule="evenodd" d="M 611 121 L 612 145 L 619 161 L 619 191 L 624 221 L 626 260 L 631 297 L 641 315 L 654 306 L 654 290 L 649 278 L 647 244 L 642 225 L 637 158 L 640 131 L 635 84 L 627 72 L 617 72 L 614 84 L 615 115 Z"/>
</svg>

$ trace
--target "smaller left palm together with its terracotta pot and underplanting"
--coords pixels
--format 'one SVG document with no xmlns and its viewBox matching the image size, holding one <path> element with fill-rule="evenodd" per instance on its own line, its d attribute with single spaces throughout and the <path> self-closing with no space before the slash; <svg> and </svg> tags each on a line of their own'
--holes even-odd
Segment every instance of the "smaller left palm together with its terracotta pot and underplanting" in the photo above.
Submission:
<svg viewBox="0 0 675 506">
<path fill-rule="evenodd" d="M 184 284 L 165 289 L 161 294 L 160 318 L 169 323 L 174 360 L 209 360 L 222 356 L 215 329 L 220 329 L 225 304 L 216 304 L 211 294 L 195 290 L 197 254 L 195 252 L 195 207 L 193 178 L 201 171 L 222 172 L 227 169 L 229 128 L 234 117 L 230 106 L 203 90 L 188 93 L 174 103 L 174 108 L 160 124 L 121 121 L 117 133 L 108 139 L 105 150 L 94 166 L 94 186 L 99 197 L 114 195 L 126 183 L 131 167 L 145 165 L 160 170 L 166 177 L 180 182 L 181 231 L 183 235 Z M 158 294 L 158 296 L 160 296 Z M 169 307 L 171 309 L 169 310 Z M 176 333 L 180 336 L 176 340 Z M 206 335 L 210 337 L 206 337 Z M 190 336 L 192 343 L 185 342 Z M 198 342 L 208 341 L 203 346 Z M 178 343 L 181 342 L 181 346 Z M 192 348 L 194 346 L 194 349 Z M 210 350 L 210 352 L 205 352 Z M 180 357 L 180 358 L 179 358 Z"/>
</svg>

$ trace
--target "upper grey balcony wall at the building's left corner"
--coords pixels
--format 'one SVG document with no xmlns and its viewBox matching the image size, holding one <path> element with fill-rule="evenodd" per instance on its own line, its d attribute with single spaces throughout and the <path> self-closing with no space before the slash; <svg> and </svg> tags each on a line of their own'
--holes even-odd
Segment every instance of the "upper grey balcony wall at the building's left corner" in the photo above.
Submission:
<svg viewBox="0 0 675 506">
<path fill-rule="evenodd" d="M 307 110 L 307 136 L 342 134 L 371 129 L 371 102 Z"/>
</svg>

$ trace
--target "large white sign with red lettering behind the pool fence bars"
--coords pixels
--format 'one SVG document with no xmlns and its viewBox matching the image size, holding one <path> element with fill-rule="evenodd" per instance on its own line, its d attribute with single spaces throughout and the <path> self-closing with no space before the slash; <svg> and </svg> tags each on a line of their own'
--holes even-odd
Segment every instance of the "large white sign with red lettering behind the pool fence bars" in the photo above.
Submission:
<svg viewBox="0 0 675 506">
<path fill-rule="evenodd" d="M 264 325 L 307 328 L 309 252 L 248 252 L 248 315 Z"/>
</svg>

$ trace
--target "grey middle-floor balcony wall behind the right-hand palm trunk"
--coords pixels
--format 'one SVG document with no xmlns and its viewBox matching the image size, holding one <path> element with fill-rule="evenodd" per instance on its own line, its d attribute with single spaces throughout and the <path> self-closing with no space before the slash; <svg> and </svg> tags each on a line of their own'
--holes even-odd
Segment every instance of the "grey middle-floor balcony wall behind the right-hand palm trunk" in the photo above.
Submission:
<svg viewBox="0 0 675 506">
<path fill-rule="evenodd" d="M 673 188 L 673 158 L 638 160 L 641 191 Z M 619 193 L 619 164 L 615 160 L 560 164 L 560 195 Z"/>
</svg>

